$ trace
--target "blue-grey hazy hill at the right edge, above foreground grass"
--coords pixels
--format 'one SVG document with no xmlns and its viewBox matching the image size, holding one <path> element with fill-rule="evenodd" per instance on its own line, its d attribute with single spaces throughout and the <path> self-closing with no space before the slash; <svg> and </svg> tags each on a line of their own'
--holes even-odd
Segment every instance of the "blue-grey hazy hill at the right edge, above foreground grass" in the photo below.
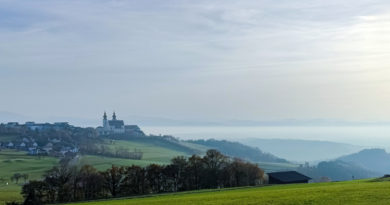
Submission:
<svg viewBox="0 0 390 205">
<path fill-rule="evenodd" d="M 355 154 L 340 157 L 338 160 L 355 163 L 367 170 L 381 174 L 390 173 L 390 154 L 384 149 L 365 149 Z"/>
</svg>

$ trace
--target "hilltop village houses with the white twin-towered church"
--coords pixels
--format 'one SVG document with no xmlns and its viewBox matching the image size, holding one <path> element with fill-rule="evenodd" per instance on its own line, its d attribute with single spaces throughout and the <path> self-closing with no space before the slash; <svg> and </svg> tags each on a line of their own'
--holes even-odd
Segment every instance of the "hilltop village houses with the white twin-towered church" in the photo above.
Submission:
<svg viewBox="0 0 390 205">
<path fill-rule="evenodd" d="M 145 136 L 137 125 L 125 125 L 123 120 L 118 120 L 115 112 L 112 115 L 112 120 L 107 120 L 107 114 L 104 113 L 103 124 L 97 128 L 76 127 L 68 122 L 35 123 L 29 121 L 24 124 L 8 122 L 0 124 L 0 133 L 17 136 L 1 138 L 0 150 L 16 149 L 27 151 L 29 155 L 56 157 L 90 150 L 91 148 L 84 143 L 86 141 L 110 137 Z M 87 137 L 82 139 L 82 136 Z"/>
</svg>

